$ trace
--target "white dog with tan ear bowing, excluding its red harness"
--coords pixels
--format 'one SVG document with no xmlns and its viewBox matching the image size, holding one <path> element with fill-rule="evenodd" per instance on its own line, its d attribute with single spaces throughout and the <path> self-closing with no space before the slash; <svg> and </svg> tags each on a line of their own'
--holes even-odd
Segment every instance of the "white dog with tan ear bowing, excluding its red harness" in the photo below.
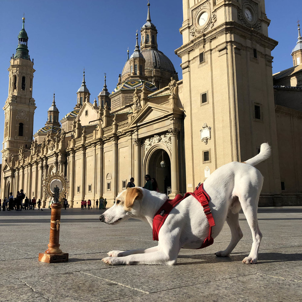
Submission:
<svg viewBox="0 0 302 302">
<path fill-rule="evenodd" d="M 260 153 L 246 162 L 231 162 L 214 171 L 204 182 L 204 190 L 210 196 L 209 206 L 215 221 L 212 237 L 215 238 L 226 220 L 231 230 L 231 242 L 224 251 L 216 256 L 228 257 L 243 233 L 239 226 L 239 210 L 242 208 L 252 231 L 253 244 L 243 263 L 257 262 L 262 233 L 257 220 L 259 194 L 263 177 L 254 168 L 267 159 L 271 148 L 267 143 L 261 145 Z M 164 204 L 166 195 L 148 191 L 140 187 L 128 188 L 121 192 L 113 207 L 109 208 L 100 220 L 116 224 L 130 217 L 146 221 L 152 227 L 153 217 Z M 179 202 L 170 212 L 162 225 L 158 246 L 149 249 L 130 251 L 111 251 L 109 257 L 102 259 L 110 265 L 168 264 L 175 265 L 181 248 L 198 249 L 209 234 L 209 222 L 203 207 L 193 196 Z"/>
</svg>

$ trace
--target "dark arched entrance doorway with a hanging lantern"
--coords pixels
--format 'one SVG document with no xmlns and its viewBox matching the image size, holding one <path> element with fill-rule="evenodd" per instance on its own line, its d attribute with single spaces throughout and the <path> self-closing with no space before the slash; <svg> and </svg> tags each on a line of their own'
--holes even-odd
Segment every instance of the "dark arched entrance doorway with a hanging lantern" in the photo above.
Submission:
<svg viewBox="0 0 302 302">
<path fill-rule="evenodd" d="M 164 166 L 161 162 L 164 162 Z M 171 188 L 171 161 L 169 154 L 164 149 L 156 149 L 152 152 L 147 163 L 145 174 L 149 174 L 157 181 L 159 191 L 167 194 L 167 188 Z"/>
</svg>

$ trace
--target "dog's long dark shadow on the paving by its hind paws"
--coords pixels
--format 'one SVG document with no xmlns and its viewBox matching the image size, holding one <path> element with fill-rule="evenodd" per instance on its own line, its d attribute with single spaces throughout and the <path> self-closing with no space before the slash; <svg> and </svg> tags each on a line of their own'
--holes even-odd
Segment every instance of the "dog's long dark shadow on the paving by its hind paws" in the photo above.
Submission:
<svg viewBox="0 0 302 302">
<path fill-rule="evenodd" d="M 205 263 L 220 263 L 220 262 L 241 262 L 249 252 L 240 254 L 231 254 L 230 257 L 217 257 L 212 254 L 199 254 L 199 255 L 178 255 L 178 259 L 196 259 L 201 261 L 192 262 L 178 262 L 177 265 L 193 265 Z M 301 253 L 296 254 L 283 254 L 283 253 L 259 253 L 257 264 L 265 264 L 271 262 L 287 262 L 299 261 L 302 259 Z"/>
</svg>

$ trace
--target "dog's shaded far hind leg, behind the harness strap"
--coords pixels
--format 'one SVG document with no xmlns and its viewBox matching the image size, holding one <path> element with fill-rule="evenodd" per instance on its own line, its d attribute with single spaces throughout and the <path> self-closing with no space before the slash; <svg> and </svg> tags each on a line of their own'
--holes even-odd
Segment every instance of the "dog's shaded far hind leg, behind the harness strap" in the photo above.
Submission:
<svg viewBox="0 0 302 302">
<path fill-rule="evenodd" d="M 239 226 L 239 213 L 232 213 L 231 211 L 226 216 L 226 222 L 231 230 L 231 241 L 229 246 L 224 251 L 216 252 L 217 257 L 229 257 L 239 240 L 243 237 L 243 233 Z"/>
</svg>

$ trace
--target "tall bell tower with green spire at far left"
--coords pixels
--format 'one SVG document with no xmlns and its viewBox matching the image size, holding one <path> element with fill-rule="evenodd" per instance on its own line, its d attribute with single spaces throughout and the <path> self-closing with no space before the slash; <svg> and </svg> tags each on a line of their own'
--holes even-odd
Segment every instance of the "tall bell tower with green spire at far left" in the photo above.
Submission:
<svg viewBox="0 0 302 302">
<path fill-rule="evenodd" d="M 31 61 L 23 26 L 18 35 L 16 54 L 11 56 L 8 82 L 8 98 L 3 107 L 5 114 L 2 159 L 11 161 L 11 153 L 18 154 L 19 149 L 31 147 L 33 140 L 34 111 L 37 108 L 32 98 L 34 60 Z"/>
</svg>

